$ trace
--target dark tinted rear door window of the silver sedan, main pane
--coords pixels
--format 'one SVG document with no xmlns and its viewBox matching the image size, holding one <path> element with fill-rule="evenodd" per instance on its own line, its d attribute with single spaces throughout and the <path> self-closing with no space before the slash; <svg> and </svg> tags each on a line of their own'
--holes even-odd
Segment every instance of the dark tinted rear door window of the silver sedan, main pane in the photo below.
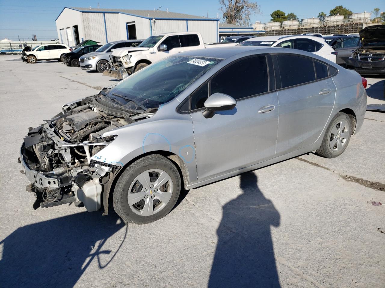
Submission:
<svg viewBox="0 0 385 288">
<path fill-rule="evenodd" d="M 296 55 L 276 55 L 282 88 L 315 81 L 313 60 Z"/>
</svg>

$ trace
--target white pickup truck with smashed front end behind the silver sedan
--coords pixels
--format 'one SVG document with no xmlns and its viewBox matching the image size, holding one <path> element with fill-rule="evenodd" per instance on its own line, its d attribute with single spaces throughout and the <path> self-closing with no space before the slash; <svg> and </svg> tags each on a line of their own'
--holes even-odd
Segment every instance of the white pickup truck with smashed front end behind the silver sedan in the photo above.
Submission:
<svg viewBox="0 0 385 288">
<path fill-rule="evenodd" d="M 152 35 L 137 47 L 115 49 L 110 55 L 112 66 L 103 75 L 124 79 L 167 56 L 203 48 L 202 35 L 198 32 Z"/>
</svg>

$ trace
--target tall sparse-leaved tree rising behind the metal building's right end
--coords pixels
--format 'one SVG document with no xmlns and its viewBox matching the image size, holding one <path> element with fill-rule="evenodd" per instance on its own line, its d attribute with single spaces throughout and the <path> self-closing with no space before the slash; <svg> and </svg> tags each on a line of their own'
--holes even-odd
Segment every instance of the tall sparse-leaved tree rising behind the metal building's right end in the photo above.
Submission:
<svg viewBox="0 0 385 288">
<path fill-rule="evenodd" d="M 249 26 L 250 16 L 259 14 L 257 2 L 249 0 L 218 0 L 226 23 Z"/>
</svg>

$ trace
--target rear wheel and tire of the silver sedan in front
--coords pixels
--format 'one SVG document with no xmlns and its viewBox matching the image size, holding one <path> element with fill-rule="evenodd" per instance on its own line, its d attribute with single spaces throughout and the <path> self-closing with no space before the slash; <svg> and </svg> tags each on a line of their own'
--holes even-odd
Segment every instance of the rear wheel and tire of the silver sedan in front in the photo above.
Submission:
<svg viewBox="0 0 385 288">
<path fill-rule="evenodd" d="M 325 158 L 340 156 L 348 146 L 351 136 L 352 121 L 345 113 L 338 112 L 330 121 L 316 154 Z"/>
</svg>

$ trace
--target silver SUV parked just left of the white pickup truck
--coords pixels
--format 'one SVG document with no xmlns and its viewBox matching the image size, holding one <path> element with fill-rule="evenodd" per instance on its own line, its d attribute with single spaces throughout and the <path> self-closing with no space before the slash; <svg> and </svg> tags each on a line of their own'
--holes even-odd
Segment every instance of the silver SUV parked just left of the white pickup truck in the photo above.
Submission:
<svg viewBox="0 0 385 288">
<path fill-rule="evenodd" d="M 111 67 L 110 55 L 117 48 L 137 47 L 143 40 L 120 40 L 109 42 L 94 52 L 79 58 L 80 68 L 83 70 L 97 70 L 100 73 Z"/>
</svg>

